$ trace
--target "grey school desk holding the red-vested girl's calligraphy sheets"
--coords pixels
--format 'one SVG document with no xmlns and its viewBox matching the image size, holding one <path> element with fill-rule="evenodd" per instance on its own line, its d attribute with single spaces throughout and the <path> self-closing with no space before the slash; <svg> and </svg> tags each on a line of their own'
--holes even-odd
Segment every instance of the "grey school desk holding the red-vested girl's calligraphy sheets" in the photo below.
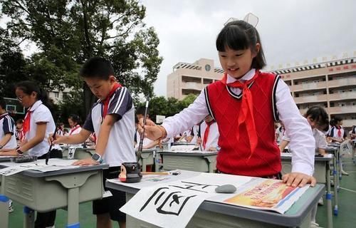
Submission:
<svg viewBox="0 0 356 228">
<path fill-rule="evenodd" d="M 184 170 L 181 171 L 182 173 Z M 130 186 L 106 182 L 105 186 L 126 192 L 126 200 L 130 200 L 133 195 L 140 190 L 137 183 L 132 183 Z M 310 227 L 310 211 L 318 199 L 323 195 L 324 185 L 316 185 L 310 187 L 298 199 L 285 214 L 276 212 L 262 211 L 258 209 L 249 209 L 246 207 L 238 207 L 231 204 L 211 202 L 205 200 L 202 202 L 194 214 L 187 227 L 206 227 L 206 228 L 237 228 L 237 227 Z M 135 219 L 134 217 L 126 216 L 127 227 L 156 227 L 147 222 Z"/>
</svg>

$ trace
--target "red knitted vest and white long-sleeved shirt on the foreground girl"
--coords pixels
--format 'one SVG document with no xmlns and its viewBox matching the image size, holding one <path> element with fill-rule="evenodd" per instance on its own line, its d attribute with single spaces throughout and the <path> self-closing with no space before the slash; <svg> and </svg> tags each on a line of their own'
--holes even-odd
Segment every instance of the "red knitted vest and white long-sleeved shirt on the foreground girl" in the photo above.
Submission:
<svg viewBox="0 0 356 228">
<path fill-rule="evenodd" d="M 255 69 L 248 71 L 239 80 L 229 75 L 224 78 L 225 83 L 222 80 L 211 83 L 188 108 L 164 120 L 162 126 L 167 131 L 167 137 L 189 128 L 210 114 L 216 120 L 220 134 L 221 149 L 216 159 L 216 168 L 234 175 L 266 177 L 281 172 L 281 154 L 274 130 L 274 121 L 281 120 L 293 139 L 290 142 L 290 146 L 295 149 L 292 172 L 313 175 L 314 154 L 310 153 L 315 151 L 313 134 L 307 120 L 300 115 L 286 83 L 279 76 Z M 253 151 L 249 142 L 252 132 L 246 129 L 249 126 L 242 123 L 238 127 L 241 103 L 244 101 L 241 99 L 244 98 L 243 90 L 228 86 L 236 81 L 251 81 L 247 88 L 253 98 L 256 128 L 253 134 L 257 135 Z"/>
</svg>

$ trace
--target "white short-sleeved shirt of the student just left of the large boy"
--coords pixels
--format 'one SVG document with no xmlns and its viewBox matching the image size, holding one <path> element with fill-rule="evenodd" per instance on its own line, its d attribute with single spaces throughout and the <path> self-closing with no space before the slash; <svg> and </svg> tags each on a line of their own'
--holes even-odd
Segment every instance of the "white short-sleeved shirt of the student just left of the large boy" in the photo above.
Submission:
<svg viewBox="0 0 356 228">
<path fill-rule="evenodd" d="M 40 157 L 48 152 L 49 143 L 48 135 L 53 134 L 56 130 L 51 111 L 43 105 L 41 100 L 37 100 L 31 108 L 30 130 L 26 133 L 26 140 L 29 141 L 36 136 L 37 123 L 46 123 L 46 133 L 42 142 L 28 150 L 29 155 Z"/>
</svg>

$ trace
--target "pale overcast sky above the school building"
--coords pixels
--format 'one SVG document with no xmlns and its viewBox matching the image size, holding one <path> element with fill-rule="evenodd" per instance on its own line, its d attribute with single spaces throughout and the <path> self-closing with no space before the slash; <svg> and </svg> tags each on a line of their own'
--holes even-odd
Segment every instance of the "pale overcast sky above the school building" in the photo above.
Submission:
<svg viewBox="0 0 356 228">
<path fill-rule="evenodd" d="M 215 40 L 231 17 L 258 16 L 256 26 L 271 69 L 356 57 L 353 0 L 141 0 L 144 22 L 155 27 L 164 58 L 155 94 L 167 94 L 167 75 L 179 62 L 210 58 L 220 67 Z"/>
</svg>

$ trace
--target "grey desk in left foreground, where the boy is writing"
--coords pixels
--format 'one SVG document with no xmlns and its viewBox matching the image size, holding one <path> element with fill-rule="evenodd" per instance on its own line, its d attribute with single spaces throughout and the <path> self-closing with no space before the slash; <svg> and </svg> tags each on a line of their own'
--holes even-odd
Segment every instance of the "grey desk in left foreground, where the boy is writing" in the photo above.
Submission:
<svg viewBox="0 0 356 228">
<path fill-rule="evenodd" d="M 108 167 L 93 165 L 51 172 L 25 170 L 15 175 L 1 175 L 0 193 L 26 205 L 23 227 L 33 227 L 33 210 L 48 212 L 67 207 L 67 227 L 76 228 L 80 227 L 79 203 L 103 197 L 103 169 Z"/>
</svg>

